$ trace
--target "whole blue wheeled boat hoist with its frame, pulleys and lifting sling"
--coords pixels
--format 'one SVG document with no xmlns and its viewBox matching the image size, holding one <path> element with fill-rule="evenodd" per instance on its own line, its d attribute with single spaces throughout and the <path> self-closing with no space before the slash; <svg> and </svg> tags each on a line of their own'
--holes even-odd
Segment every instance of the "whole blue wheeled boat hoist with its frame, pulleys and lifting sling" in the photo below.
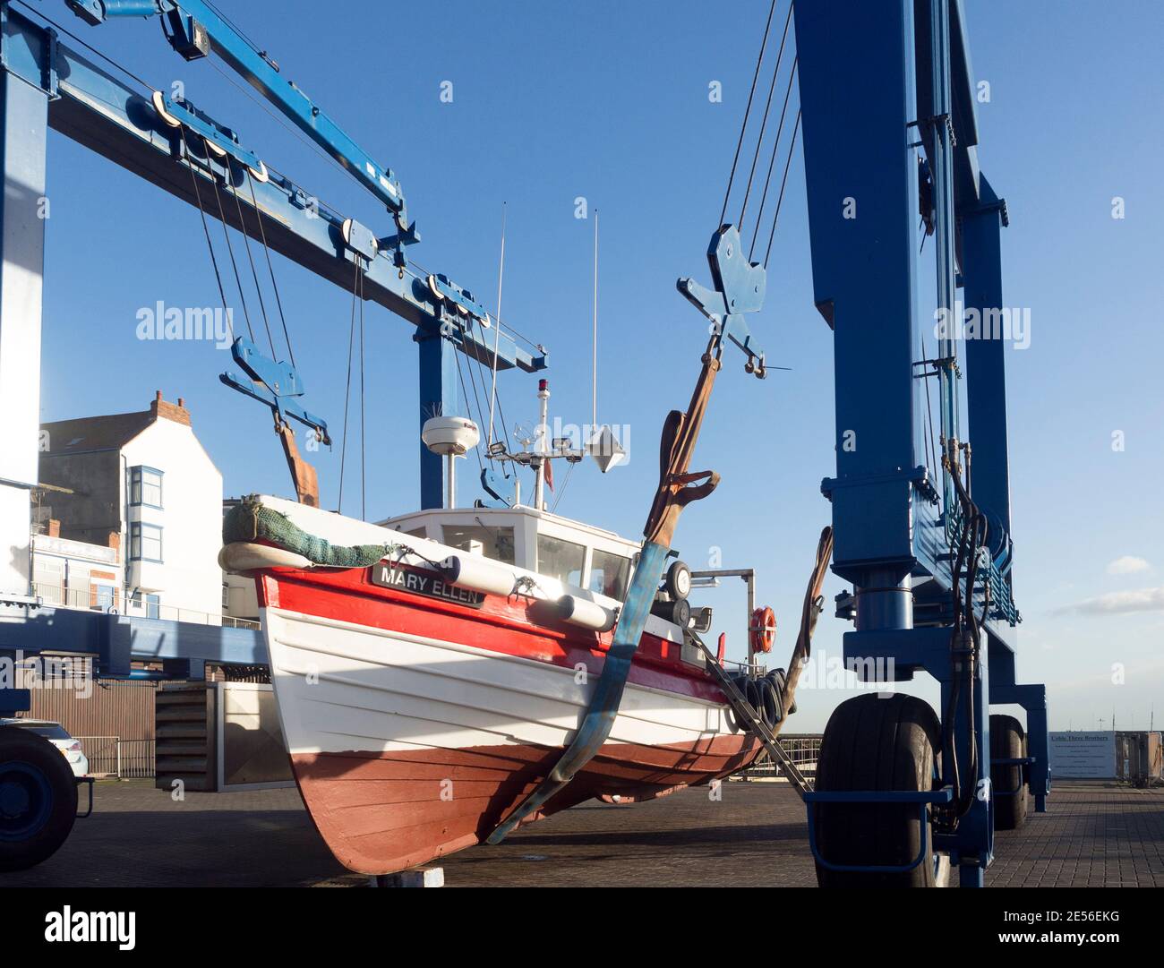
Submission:
<svg viewBox="0 0 1164 968">
<path fill-rule="evenodd" d="M 1003 307 L 1000 235 L 1008 213 L 979 166 L 965 13 L 961 0 L 852 0 L 844 15 L 837 5 L 787 2 L 780 48 L 793 23 L 800 109 L 792 136 L 802 126 L 814 298 L 833 336 L 837 471 L 822 492 L 832 508 L 832 570 L 853 588 L 837 602 L 838 617 L 853 621 L 844 654 L 865 681 L 928 672 L 941 685 L 939 716 L 901 695 L 867 693 L 838 707 L 815 789 L 805 793 L 810 846 L 823 884 L 930 885 L 956 868 L 961 884 L 981 885 L 994 830 L 1022 823 L 1028 793 L 1037 811 L 1045 810 L 1050 766 L 1045 688 L 1016 677 L 1006 346 L 967 340 L 959 358 L 957 341 L 943 333 L 931 355 L 918 312 L 920 215 L 934 240 L 936 311 L 949 320 L 960 306 L 980 314 Z M 221 188 L 237 207 L 211 211 L 213 218 L 336 285 L 349 287 L 357 273 L 367 300 L 417 327 L 421 420 L 456 412 L 456 354 L 497 369 L 546 366 L 545 351 L 518 347 L 471 292 L 416 271 L 407 250 L 419 234 L 396 175 L 213 5 L 66 3 L 94 26 L 157 17 L 183 57 L 220 57 L 383 204 L 391 227 L 379 234 L 325 207 L 317 212 L 299 185 L 232 128 L 184 98 L 127 81 L 83 42 L 62 38 L 68 31 L 59 26 L 15 9 L 16 0 L 0 0 L 0 407 L 10 430 L 0 451 L 0 539 L 8 546 L 28 544 L 27 491 L 36 484 L 44 220 L 35 209 L 45 191 L 49 127 L 199 208 L 201 191 Z M 771 26 L 769 12 L 753 95 Z M 766 108 L 757 157 L 767 119 Z M 781 112 L 779 130 L 785 120 Z M 739 161 L 738 145 L 736 154 Z M 755 159 L 752 168 L 754 175 Z M 786 163 L 786 180 L 787 172 Z M 726 198 L 724 204 L 726 209 Z M 754 221 L 758 229 L 758 215 Z M 584 768 L 609 733 L 679 513 L 715 487 L 716 476 L 693 474 L 689 462 L 724 339 L 744 350 L 751 371 L 772 369 L 744 320 L 762 304 L 768 258 L 752 262 L 754 235 L 744 255 L 743 222 L 743 211 L 734 222 L 721 218 L 708 250 L 711 287 L 680 282 L 680 292 L 712 321 L 712 335 L 687 412 L 674 412 L 665 428 L 647 540 L 601 681 L 570 747 L 494 832 L 495 842 Z M 769 254 L 771 247 L 769 236 Z M 233 353 L 241 375 L 226 382 L 270 406 L 277 428 L 294 420 L 326 436 L 326 424 L 299 404 L 293 361 L 265 357 L 246 340 Z M 941 433 L 928 450 L 923 414 L 931 386 Z M 290 451 L 289 462 L 294 472 Z M 424 507 L 441 505 L 445 472 L 440 457 L 423 448 Z M 296 483 L 300 497 L 310 493 L 310 479 L 297 476 Z M 822 554 L 821 569 L 828 561 Z M 130 660 L 142 655 L 191 677 L 207 661 L 265 659 L 257 636 L 239 629 L 178 634 L 176 622 L 37 607 L 24 593 L 27 567 L 2 567 L 0 649 L 90 652 L 107 675 L 128 675 Z M 815 621 L 815 603 L 812 592 L 805 627 Z M 27 709 L 27 691 L 20 693 L 0 685 L 0 711 Z M 1012 717 L 992 716 L 991 704 L 1022 706 L 1025 731 Z"/>
</svg>

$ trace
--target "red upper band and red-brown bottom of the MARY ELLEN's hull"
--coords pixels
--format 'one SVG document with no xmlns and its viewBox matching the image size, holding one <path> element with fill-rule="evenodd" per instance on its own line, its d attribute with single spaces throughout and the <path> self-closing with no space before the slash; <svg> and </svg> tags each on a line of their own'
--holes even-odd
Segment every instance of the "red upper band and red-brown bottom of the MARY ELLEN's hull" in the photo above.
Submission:
<svg viewBox="0 0 1164 968">
<path fill-rule="evenodd" d="M 547 622 L 537 612 L 537 602 L 517 596 L 487 596 L 473 608 L 374 585 L 367 570 L 270 570 L 260 575 L 258 596 L 269 608 L 467 643 L 559 669 L 584 668 L 590 676 L 601 675 L 612 638 L 611 633 Z M 277 655 L 278 643 L 269 645 Z M 386 667 L 377 672 L 391 675 Z M 700 709 L 725 704 L 710 675 L 682 661 L 677 643 L 651 634 L 643 638 L 629 681 L 632 688 L 690 699 Z M 367 696 L 359 699 L 363 700 L 375 702 Z M 377 734 L 377 745 L 381 739 L 391 736 Z M 521 739 L 389 752 L 355 747 L 352 752 L 301 752 L 319 748 L 314 738 L 290 746 L 296 780 L 320 834 L 341 863 L 367 874 L 414 867 L 480 844 L 548 775 L 563 752 L 562 746 Z M 736 732 L 677 743 L 610 742 L 537 816 L 594 797 L 645 799 L 707 783 L 746 767 L 759 752 L 754 738 Z"/>
</svg>

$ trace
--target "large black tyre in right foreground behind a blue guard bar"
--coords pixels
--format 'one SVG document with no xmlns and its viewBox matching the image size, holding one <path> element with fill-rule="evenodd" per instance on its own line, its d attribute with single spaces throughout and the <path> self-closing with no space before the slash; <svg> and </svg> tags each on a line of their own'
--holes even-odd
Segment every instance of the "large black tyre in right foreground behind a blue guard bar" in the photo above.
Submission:
<svg viewBox="0 0 1164 968">
<path fill-rule="evenodd" d="M 847 699 L 833 711 L 821 740 L 817 790 L 931 790 L 938 775 L 942 727 L 928 703 L 913 696 L 876 693 Z M 831 863 L 907 864 L 921 849 L 922 825 L 914 804 L 817 804 L 817 849 Z M 816 864 L 822 888 L 944 887 L 949 859 L 934 854 L 903 874 L 829 870 Z"/>
</svg>

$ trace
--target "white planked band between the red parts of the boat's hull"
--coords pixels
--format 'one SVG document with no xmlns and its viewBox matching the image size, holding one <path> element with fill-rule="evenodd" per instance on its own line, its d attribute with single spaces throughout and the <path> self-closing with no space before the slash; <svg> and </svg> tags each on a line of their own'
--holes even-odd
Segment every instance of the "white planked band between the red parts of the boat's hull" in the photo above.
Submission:
<svg viewBox="0 0 1164 968">
<path fill-rule="evenodd" d="M 464 643 L 282 608 L 262 615 L 288 748 L 382 753 L 565 746 L 596 677 Z M 627 684 L 611 742 L 698 743 L 733 732 L 725 706 Z"/>
</svg>

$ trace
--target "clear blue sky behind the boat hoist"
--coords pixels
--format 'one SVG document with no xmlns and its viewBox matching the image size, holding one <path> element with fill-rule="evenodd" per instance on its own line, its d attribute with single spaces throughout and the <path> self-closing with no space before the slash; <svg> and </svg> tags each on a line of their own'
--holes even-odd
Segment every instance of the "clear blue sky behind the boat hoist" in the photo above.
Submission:
<svg viewBox="0 0 1164 968">
<path fill-rule="evenodd" d="M 272 166 L 390 232 L 386 213 L 347 173 L 234 86 L 221 65 L 182 61 L 156 21 L 90 28 L 63 2 L 33 6 L 151 86 L 180 81 Z M 637 538 L 655 486 L 662 419 L 686 406 L 705 339 L 704 320 L 675 279 L 709 282 L 704 251 L 768 5 L 219 6 L 399 176 L 424 239 L 412 257 L 490 308 L 505 205 L 503 318 L 549 350 L 551 413 L 565 422 L 590 415 L 592 212 L 601 212 L 598 418 L 627 428 L 631 460 L 605 476 L 587 462 L 565 492 L 559 475 L 556 511 Z M 967 0 L 966 13 L 974 76 L 991 92 L 979 105 L 979 158 L 1010 214 L 1006 301 L 1031 311 L 1029 348 L 1007 358 L 1015 595 L 1024 619 L 1018 679 L 1046 683 L 1051 728 L 1110 728 L 1113 717 L 1120 728 L 1148 728 L 1154 705 L 1159 726 L 1164 8 L 1114 0 L 1098 17 L 1083 0 Z M 719 101 L 709 98 L 712 81 Z M 576 218 L 580 198 L 585 219 Z M 159 389 L 166 399 L 185 398 L 228 496 L 288 493 L 269 413 L 218 380 L 228 354 L 137 339 L 139 309 L 158 300 L 219 301 L 198 213 L 56 133 L 49 199 L 43 420 L 143 410 Z M 1123 218 L 1113 218 L 1114 199 Z M 221 261 L 220 235 L 219 243 Z M 920 262 L 923 277 L 932 275 L 931 255 L 929 247 Z M 339 429 L 350 293 L 274 258 L 306 405 Z M 789 369 L 761 383 L 729 355 L 695 461 L 718 470 L 723 484 L 684 514 L 676 535 L 693 568 L 758 570 L 758 598 L 779 617 L 774 664 L 792 650 L 817 536 L 830 519 L 819 483 L 835 471 L 832 337 L 811 293 L 797 149 L 765 309 L 752 318 L 768 362 Z M 368 517 L 377 520 L 418 501 L 417 354 L 411 325 L 383 307 L 367 307 L 365 327 L 364 479 Z M 503 373 L 499 392 L 511 427 L 535 422 L 535 377 Z M 1122 449 L 1113 448 L 1116 433 Z M 359 512 L 350 483 L 359 449 L 353 435 L 347 513 Z M 339 448 L 311 456 L 324 504 L 335 507 Z M 462 469 L 462 494 L 474 468 Z M 830 575 L 826 602 L 844 588 Z M 741 657 L 743 583 L 730 579 L 697 604 L 715 606 L 716 631 L 728 632 L 730 656 Z M 849 627 L 831 608 L 822 617 L 822 669 L 839 659 Z M 854 695 L 825 688 L 830 678 L 822 672 L 818 688 L 802 689 L 788 728 L 821 731 Z M 932 683 L 908 689 L 936 696 Z"/>
</svg>

